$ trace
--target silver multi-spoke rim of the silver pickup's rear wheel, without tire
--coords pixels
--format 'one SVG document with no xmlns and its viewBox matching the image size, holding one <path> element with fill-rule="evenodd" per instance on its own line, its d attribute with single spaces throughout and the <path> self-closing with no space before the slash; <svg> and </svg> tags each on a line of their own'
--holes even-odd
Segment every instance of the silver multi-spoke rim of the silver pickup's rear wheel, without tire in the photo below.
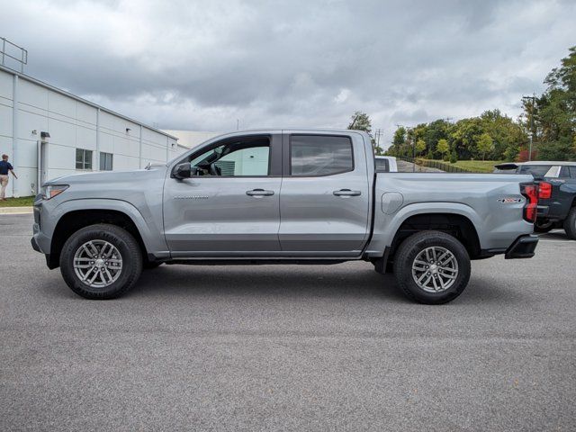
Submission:
<svg viewBox="0 0 576 432">
<path fill-rule="evenodd" d="M 446 247 L 427 247 L 412 263 L 414 282 L 428 293 L 443 293 L 455 284 L 458 261 Z"/>
</svg>

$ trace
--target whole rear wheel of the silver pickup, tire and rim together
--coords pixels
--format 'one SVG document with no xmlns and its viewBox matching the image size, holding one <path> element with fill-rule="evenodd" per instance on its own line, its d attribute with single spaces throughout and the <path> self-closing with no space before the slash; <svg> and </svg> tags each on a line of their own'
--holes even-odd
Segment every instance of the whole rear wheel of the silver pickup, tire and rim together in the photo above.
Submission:
<svg viewBox="0 0 576 432">
<path fill-rule="evenodd" d="M 406 238 L 394 257 L 402 292 L 425 304 L 452 302 L 470 279 L 470 257 L 458 239 L 441 231 L 421 231 Z"/>
</svg>

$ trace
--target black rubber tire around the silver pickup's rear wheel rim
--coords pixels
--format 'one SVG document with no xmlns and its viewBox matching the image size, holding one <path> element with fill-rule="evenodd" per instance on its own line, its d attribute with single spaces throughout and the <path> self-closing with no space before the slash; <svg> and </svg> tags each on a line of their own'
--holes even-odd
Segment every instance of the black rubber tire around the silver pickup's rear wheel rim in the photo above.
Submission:
<svg viewBox="0 0 576 432">
<path fill-rule="evenodd" d="M 412 265 L 416 257 L 428 247 L 443 247 L 455 257 L 458 272 L 455 282 L 446 291 L 430 293 L 421 288 L 412 275 Z M 398 247 L 394 257 L 394 275 L 401 291 L 416 302 L 425 304 L 452 302 L 464 291 L 470 280 L 470 257 L 464 245 L 453 236 L 441 231 L 420 231 L 406 238 Z"/>
</svg>

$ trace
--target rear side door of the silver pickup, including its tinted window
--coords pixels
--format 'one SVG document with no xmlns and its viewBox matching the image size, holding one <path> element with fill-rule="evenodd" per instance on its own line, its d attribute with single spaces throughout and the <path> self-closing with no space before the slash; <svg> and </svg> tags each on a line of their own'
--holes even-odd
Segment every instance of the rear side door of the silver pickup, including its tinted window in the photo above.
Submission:
<svg viewBox="0 0 576 432">
<path fill-rule="evenodd" d="M 360 253 L 369 230 L 372 181 L 365 152 L 363 136 L 357 133 L 284 133 L 283 252 L 303 257 Z"/>
</svg>

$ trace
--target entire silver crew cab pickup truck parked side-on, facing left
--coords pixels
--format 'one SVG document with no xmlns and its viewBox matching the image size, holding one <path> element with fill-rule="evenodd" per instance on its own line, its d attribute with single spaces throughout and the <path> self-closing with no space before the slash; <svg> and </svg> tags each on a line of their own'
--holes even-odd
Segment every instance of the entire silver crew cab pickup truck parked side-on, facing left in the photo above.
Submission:
<svg viewBox="0 0 576 432">
<path fill-rule="evenodd" d="M 428 304 L 454 300 L 470 260 L 534 256 L 531 175 L 376 173 L 357 130 L 250 130 L 166 165 L 68 175 L 34 202 L 32 247 L 89 299 L 160 264 L 350 260 Z"/>
</svg>

